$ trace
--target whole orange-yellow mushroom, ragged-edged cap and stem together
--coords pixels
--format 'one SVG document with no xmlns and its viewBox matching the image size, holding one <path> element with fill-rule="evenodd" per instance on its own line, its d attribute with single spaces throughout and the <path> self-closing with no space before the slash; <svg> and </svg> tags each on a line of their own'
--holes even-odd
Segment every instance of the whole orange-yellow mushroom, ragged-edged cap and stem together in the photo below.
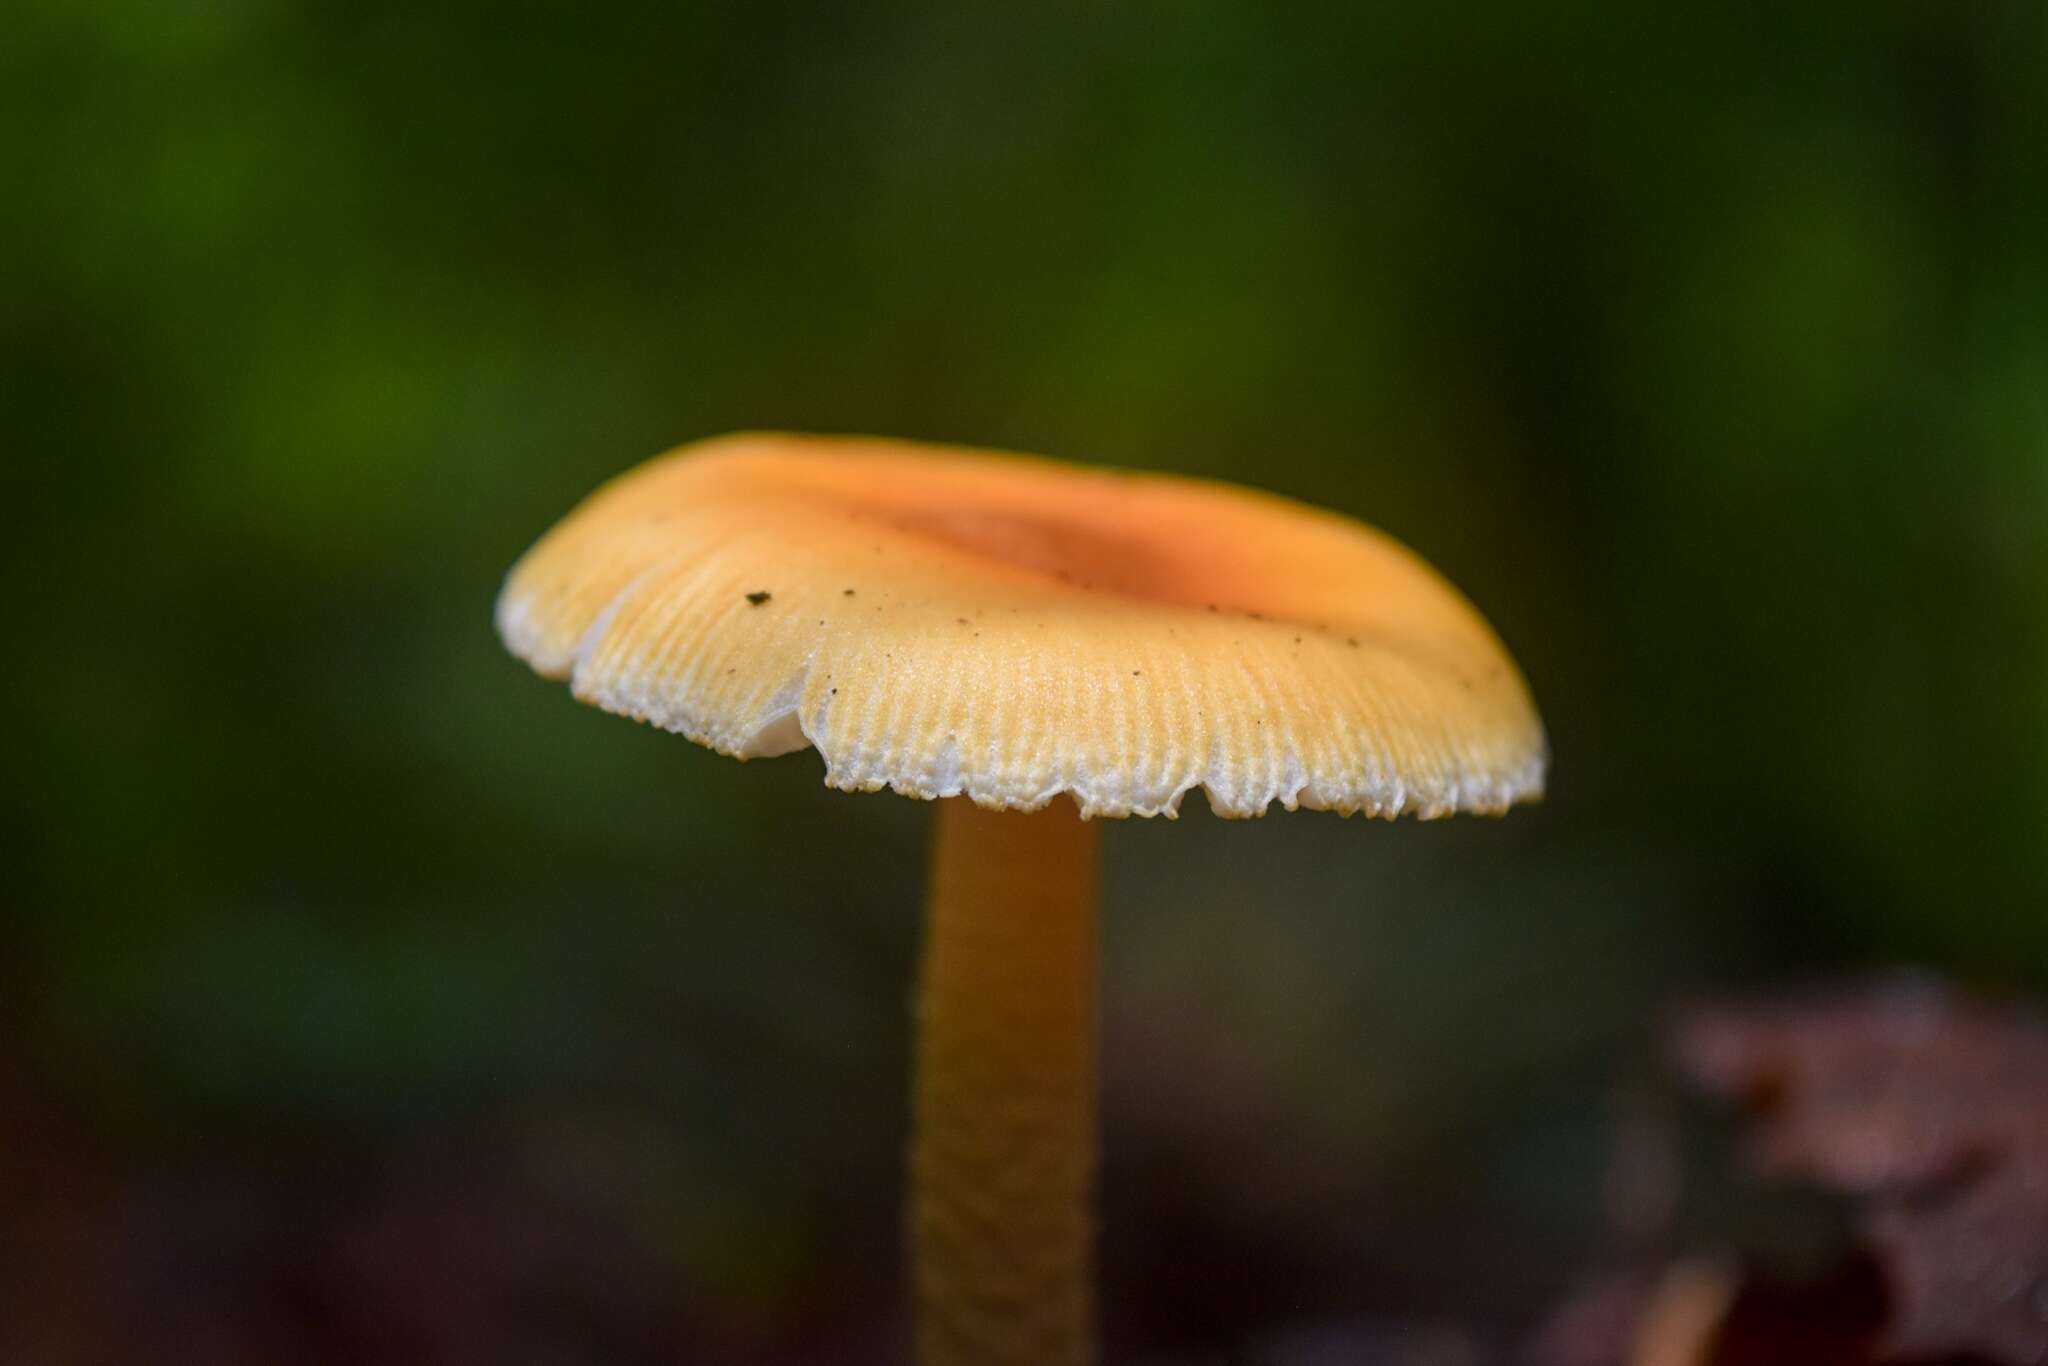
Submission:
<svg viewBox="0 0 2048 1366">
<path fill-rule="evenodd" d="M 926 1366 L 1092 1362 L 1096 819 L 1378 817 L 1542 793 L 1479 612 L 1235 485 L 739 434 L 606 483 L 514 567 L 508 649 L 733 758 L 938 803 L 911 1120 Z"/>
</svg>

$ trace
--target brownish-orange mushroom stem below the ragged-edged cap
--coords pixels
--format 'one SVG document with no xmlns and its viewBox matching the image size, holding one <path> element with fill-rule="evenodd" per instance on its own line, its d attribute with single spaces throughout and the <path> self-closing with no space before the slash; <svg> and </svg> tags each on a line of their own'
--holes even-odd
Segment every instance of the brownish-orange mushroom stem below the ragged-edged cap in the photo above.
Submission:
<svg viewBox="0 0 2048 1366">
<path fill-rule="evenodd" d="M 918 1006 L 922 1366 L 1096 1360 L 1096 825 L 938 803 Z"/>
</svg>

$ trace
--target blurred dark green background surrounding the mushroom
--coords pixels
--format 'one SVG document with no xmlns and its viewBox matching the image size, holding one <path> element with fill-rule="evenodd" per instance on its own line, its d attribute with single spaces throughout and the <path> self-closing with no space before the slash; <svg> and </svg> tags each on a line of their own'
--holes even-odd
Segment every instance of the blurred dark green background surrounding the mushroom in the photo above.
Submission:
<svg viewBox="0 0 2048 1366">
<path fill-rule="evenodd" d="M 1110 831 L 1104 1307 L 1513 1335 L 1673 1004 L 2048 989 L 2044 39 L 14 6 L 0 1358 L 893 1360 L 928 811 L 489 627 L 743 426 L 1268 485 L 1493 618 L 1542 807 Z"/>
</svg>

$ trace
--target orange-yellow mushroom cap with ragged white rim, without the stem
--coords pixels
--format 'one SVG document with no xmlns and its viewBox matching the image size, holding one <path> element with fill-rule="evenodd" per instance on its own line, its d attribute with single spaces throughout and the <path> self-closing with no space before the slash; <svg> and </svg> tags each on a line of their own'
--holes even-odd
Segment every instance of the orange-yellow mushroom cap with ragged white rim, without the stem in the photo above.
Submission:
<svg viewBox="0 0 2048 1366">
<path fill-rule="evenodd" d="M 1331 512 L 1227 483 L 737 434 L 600 487 L 498 631 L 578 698 L 825 782 L 1083 815 L 1505 811 L 1546 745 L 1485 618 Z"/>
</svg>

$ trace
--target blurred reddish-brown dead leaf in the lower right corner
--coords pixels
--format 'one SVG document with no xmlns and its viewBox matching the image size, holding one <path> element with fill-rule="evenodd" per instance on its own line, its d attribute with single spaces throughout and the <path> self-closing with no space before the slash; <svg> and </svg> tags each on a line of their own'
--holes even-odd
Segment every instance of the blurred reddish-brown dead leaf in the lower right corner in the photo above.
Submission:
<svg viewBox="0 0 2048 1366">
<path fill-rule="evenodd" d="M 1880 1360 L 2048 1366 L 2048 1022 L 1911 981 L 1704 1010 L 1675 1053 L 1751 1108 L 1763 1171 L 1855 1196 Z"/>
</svg>

